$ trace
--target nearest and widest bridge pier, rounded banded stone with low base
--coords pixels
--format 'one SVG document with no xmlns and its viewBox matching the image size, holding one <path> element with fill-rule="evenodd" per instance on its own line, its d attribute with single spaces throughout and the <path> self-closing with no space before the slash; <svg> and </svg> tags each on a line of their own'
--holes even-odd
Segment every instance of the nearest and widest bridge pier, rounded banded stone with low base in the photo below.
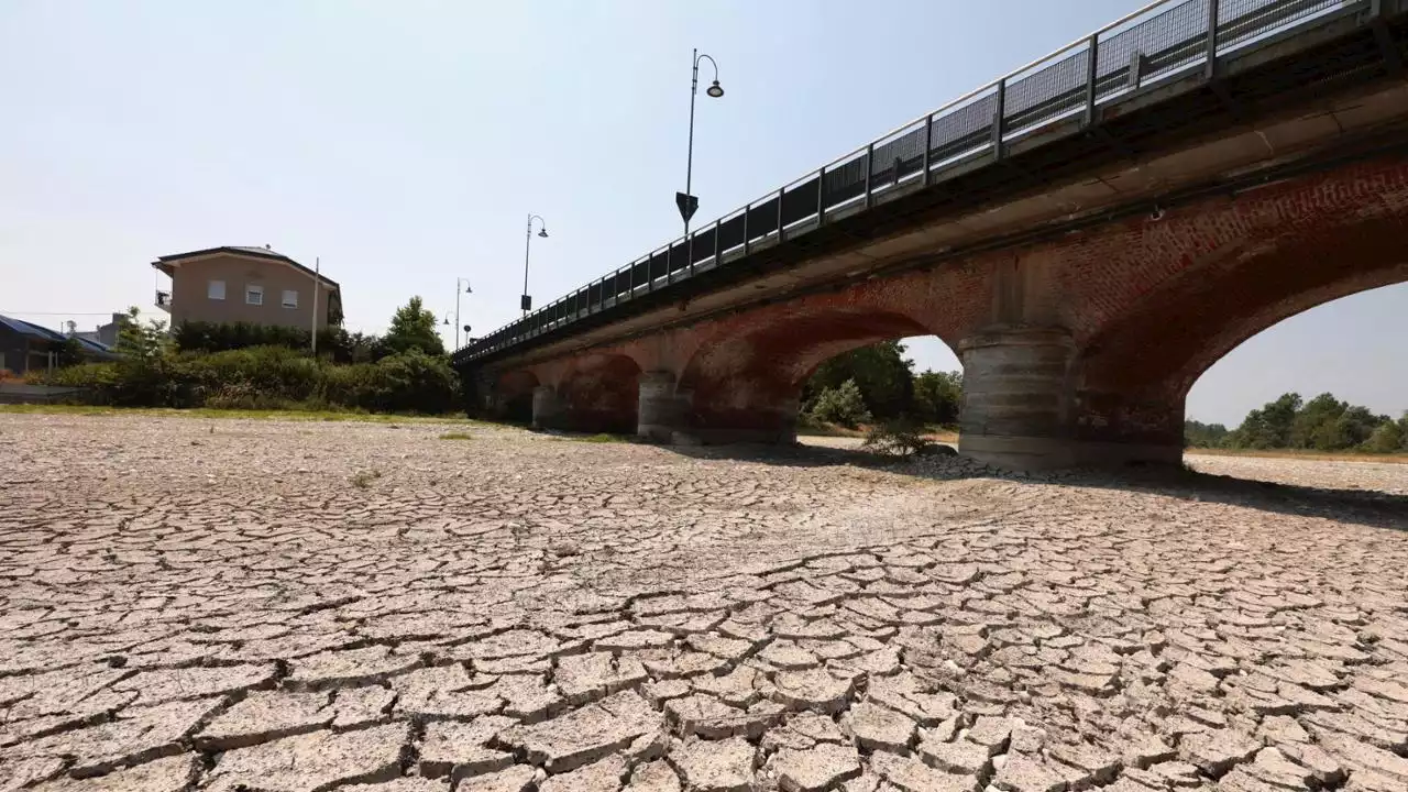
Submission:
<svg viewBox="0 0 1408 792">
<path fill-rule="evenodd" d="M 963 455 L 1018 471 L 1183 459 L 1181 399 L 1140 404 L 1139 420 L 1129 420 L 1128 400 L 1080 393 L 1077 349 L 1066 330 L 991 328 L 963 340 L 959 355 Z"/>
</svg>

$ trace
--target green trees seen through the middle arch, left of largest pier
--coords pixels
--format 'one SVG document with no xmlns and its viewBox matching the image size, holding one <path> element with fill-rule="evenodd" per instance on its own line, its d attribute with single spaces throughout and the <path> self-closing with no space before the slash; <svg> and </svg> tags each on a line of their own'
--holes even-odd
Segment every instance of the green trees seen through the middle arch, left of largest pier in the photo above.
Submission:
<svg viewBox="0 0 1408 792">
<path fill-rule="evenodd" d="M 904 357 L 898 341 L 881 341 L 836 355 L 817 366 L 801 392 L 803 416 L 819 423 L 912 420 L 950 426 L 959 420 L 963 373 L 924 371 Z"/>
</svg>

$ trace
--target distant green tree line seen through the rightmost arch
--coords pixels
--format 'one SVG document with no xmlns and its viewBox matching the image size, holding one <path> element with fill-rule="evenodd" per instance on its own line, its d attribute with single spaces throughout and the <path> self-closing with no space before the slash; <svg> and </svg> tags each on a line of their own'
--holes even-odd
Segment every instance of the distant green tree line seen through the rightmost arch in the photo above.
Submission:
<svg viewBox="0 0 1408 792">
<path fill-rule="evenodd" d="M 1184 443 L 1190 448 L 1408 452 L 1408 413 L 1394 420 L 1333 393 L 1309 402 L 1300 393 L 1283 393 L 1247 413 L 1232 430 L 1186 421 Z"/>
</svg>

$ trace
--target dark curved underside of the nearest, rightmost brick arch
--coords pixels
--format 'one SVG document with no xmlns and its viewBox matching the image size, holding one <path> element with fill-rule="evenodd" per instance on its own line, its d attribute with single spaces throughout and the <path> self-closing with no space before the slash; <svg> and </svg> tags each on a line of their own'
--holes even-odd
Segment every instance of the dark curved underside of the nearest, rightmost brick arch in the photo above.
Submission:
<svg viewBox="0 0 1408 792">
<path fill-rule="evenodd" d="M 1294 314 L 1408 280 L 1408 218 L 1360 217 L 1242 240 L 1132 300 L 1080 345 L 1077 435 L 1177 443 L 1197 379 Z"/>
</svg>

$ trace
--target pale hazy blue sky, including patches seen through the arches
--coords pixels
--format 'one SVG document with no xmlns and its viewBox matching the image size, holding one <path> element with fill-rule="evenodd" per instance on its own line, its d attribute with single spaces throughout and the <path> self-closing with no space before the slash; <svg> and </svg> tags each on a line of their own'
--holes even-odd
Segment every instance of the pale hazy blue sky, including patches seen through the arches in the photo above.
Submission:
<svg viewBox="0 0 1408 792">
<path fill-rule="evenodd" d="M 1138 4 L 0 0 L 0 313 L 90 327 L 149 309 L 158 255 L 269 244 L 321 256 L 352 330 L 449 313 L 465 276 L 483 333 L 517 316 L 528 211 L 538 304 L 679 234 L 693 47 L 727 89 L 696 123 L 707 221 Z M 1397 286 L 1283 323 L 1188 413 L 1408 409 L 1405 317 Z"/>
</svg>

